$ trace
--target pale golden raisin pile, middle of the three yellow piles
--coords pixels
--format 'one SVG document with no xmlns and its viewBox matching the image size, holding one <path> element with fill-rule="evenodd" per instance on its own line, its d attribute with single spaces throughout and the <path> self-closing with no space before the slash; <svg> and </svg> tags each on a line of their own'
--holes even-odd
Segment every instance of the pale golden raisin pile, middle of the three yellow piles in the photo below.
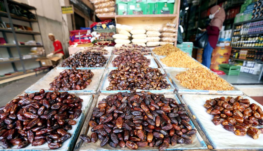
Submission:
<svg viewBox="0 0 263 151">
<path fill-rule="evenodd" d="M 201 66 L 200 63 L 194 61 L 193 58 L 188 56 L 183 51 L 171 52 L 169 55 L 161 59 L 168 67 L 177 67 L 177 68 L 195 68 Z"/>
</svg>

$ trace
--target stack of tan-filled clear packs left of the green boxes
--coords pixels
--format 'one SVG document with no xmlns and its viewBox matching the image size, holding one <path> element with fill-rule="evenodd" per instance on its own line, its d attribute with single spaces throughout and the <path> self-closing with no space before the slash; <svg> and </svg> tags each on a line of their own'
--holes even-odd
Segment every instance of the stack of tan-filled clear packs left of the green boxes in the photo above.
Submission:
<svg viewBox="0 0 263 151">
<path fill-rule="evenodd" d="M 115 1 L 113 0 L 94 0 L 95 13 L 97 16 L 116 15 Z"/>
</svg>

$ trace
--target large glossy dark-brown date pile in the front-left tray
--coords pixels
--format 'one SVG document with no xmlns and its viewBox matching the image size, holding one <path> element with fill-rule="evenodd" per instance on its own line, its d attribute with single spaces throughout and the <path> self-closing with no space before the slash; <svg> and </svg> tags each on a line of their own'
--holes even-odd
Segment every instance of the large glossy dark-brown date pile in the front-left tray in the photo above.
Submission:
<svg viewBox="0 0 263 151">
<path fill-rule="evenodd" d="M 0 145 L 17 148 L 48 144 L 60 148 L 81 114 L 83 99 L 68 92 L 39 92 L 18 96 L 0 107 Z"/>
</svg>

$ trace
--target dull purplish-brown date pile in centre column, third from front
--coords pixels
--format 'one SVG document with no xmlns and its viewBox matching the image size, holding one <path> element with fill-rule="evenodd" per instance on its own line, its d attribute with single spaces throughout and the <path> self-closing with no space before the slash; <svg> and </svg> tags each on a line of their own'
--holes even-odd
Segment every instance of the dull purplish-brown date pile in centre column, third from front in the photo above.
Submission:
<svg viewBox="0 0 263 151">
<path fill-rule="evenodd" d="M 112 64 L 113 67 L 119 67 L 120 64 L 125 62 L 138 62 L 140 64 L 143 64 L 144 66 L 149 66 L 151 64 L 150 59 L 147 59 L 146 57 L 144 57 L 144 55 L 137 51 L 121 53 L 116 58 L 114 58 Z"/>
</svg>

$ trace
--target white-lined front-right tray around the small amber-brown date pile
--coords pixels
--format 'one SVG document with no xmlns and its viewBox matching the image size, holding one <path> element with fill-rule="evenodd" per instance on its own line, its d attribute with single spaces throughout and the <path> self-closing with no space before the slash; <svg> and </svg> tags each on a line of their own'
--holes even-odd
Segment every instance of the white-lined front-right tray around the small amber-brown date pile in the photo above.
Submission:
<svg viewBox="0 0 263 151">
<path fill-rule="evenodd" d="M 208 99 L 218 98 L 222 95 L 196 95 L 196 94 L 183 94 L 182 98 L 184 103 L 188 106 L 191 113 L 196 117 L 196 121 L 199 123 L 209 142 L 215 149 L 262 149 L 263 134 L 259 135 L 258 139 L 252 137 L 237 136 L 233 132 L 227 131 L 220 125 L 214 125 L 211 121 L 213 115 L 206 113 L 204 108 L 205 101 Z M 227 97 L 225 95 L 224 97 Z M 232 96 L 236 97 L 236 96 Z M 243 96 L 244 99 L 249 99 L 250 103 L 256 103 L 261 108 L 263 107 L 255 100 L 248 96 Z M 263 126 L 260 126 L 263 128 Z"/>
</svg>

